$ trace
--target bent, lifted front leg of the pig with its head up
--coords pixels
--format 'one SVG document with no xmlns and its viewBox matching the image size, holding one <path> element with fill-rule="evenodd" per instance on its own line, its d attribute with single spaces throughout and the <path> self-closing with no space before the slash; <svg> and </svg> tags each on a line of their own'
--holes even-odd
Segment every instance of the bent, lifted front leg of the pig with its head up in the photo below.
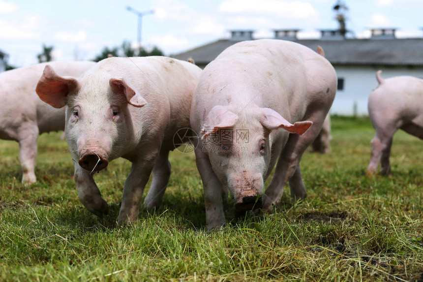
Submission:
<svg viewBox="0 0 423 282">
<path fill-rule="evenodd" d="M 101 197 L 100 190 L 92 178 L 91 172 L 75 163 L 75 184 L 78 197 L 84 206 L 97 217 L 102 218 L 109 212 L 106 201 Z"/>
</svg>

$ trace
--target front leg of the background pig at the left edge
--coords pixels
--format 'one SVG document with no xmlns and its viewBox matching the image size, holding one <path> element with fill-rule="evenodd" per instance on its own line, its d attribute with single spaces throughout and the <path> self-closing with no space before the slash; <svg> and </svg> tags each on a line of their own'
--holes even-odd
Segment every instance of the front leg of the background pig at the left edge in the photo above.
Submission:
<svg viewBox="0 0 423 282">
<path fill-rule="evenodd" d="M 19 162 L 22 168 L 22 183 L 30 185 L 36 182 L 35 159 L 37 157 L 37 125 L 23 126 L 18 132 Z"/>
</svg>

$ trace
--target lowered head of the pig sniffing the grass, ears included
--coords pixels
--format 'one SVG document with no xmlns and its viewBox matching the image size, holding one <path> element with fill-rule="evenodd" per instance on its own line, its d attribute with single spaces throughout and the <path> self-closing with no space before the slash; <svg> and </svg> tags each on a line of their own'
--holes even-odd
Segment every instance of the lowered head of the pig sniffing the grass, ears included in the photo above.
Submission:
<svg viewBox="0 0 423 282">
<path fill-rule="evenodd" d="M 302 135 L 312 122 L 289 123 L 270 108 L 254 106 L 235 113 L 229 106 L 214 106 L 201 130 L 203 151 L 214 173 L 228 188 L 237 210 L 260 208 L 264 180 L 269 173 L 273 130 Z"/>
</svg>

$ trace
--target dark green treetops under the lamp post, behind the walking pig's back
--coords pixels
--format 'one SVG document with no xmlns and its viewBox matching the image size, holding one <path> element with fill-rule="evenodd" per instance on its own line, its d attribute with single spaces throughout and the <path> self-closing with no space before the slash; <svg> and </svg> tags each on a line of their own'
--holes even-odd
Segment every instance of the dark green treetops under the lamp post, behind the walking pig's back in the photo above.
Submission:
<svg viewBox="0 0 423 282">
<path fill-rule="evenodd" d="M 147 51 L 143 47 L 132 48 L 131 43 L 128 41 L 123 41 L 120 47 L 114 47 L 109 49 L 104 47 L 101 54 L 96 56 L 93 61 L 99 62 L 108 57 L 147 57 L 147 56 L 163 56 L 163 52 L 158 49 L 156 46 L 153 47 L 151 51 Z"/>
</svg>

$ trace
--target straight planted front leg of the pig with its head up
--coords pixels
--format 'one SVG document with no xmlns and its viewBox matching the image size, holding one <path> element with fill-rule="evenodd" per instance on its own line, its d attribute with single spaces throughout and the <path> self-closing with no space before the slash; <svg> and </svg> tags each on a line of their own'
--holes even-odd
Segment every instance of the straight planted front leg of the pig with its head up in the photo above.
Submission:
<svg viewBox="0 0 423 282">
<path fill-rule="evenodd" d="M 132 161 L 131 172 L 123 186 L 122 205 L 118 216 L 119 224 L 134 222 L 138 219 L 140 201 L 149 181 L 154 159 L 155 157 L 139 157 Z"/>
</svg>

